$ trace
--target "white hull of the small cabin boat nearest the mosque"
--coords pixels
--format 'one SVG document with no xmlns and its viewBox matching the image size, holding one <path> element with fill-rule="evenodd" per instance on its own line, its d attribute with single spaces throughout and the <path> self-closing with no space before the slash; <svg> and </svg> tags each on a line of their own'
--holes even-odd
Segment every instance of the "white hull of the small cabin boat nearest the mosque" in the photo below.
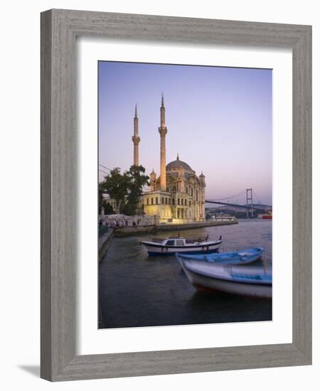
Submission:
<svg viewBox="0 0 320 391">
<path fill-rule="evenodd" d="M 219 250 L 222 241 L 206 245 L 164 246 L 151 242 L 142 242 L 149 255 L 210 254 Z"/>
</svg>

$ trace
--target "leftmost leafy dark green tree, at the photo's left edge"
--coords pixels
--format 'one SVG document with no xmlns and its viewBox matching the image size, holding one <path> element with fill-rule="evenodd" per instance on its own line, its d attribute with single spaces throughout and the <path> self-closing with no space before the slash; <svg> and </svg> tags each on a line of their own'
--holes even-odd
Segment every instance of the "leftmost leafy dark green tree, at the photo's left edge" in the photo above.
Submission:
<svg viewBox="0 0 320 391">
<path fill-rule="evenodd" d="M 113 198 L 117 204 L 117 213 L 119 213 L 121 205 L 129 191 L 129 176 L 126 172 L 123 174 L 119 167 L 110 171 L 110 174 L 105 176 L 105 180 L 99 184 L 99 194 L 107 193 L 110 198 Z"/>
</svg>

